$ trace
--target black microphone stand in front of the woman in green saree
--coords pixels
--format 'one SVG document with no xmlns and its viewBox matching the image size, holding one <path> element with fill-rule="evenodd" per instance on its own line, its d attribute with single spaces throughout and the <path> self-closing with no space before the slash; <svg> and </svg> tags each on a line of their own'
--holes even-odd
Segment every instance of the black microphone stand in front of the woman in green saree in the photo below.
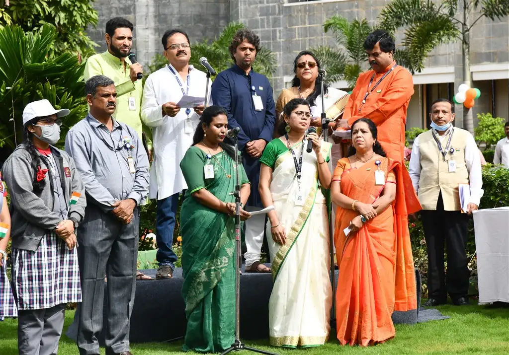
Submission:
<svg viewBox="0 0 509 355">
<path fill-rule="evenodd" d="M 232 351 L 249 350 L 265 355 L 277 355 L 276 353 L 256 349 L 246 346 L 240 341 L 240 182 L 239 182 L 239 155 L 238 155 L 239 138 L 235 136 L 235 191 L 230 195 L 235 196 L 235 342 L 228 349 L 224 350 L 221 355 L 228 354 Z"/>
</svg>

